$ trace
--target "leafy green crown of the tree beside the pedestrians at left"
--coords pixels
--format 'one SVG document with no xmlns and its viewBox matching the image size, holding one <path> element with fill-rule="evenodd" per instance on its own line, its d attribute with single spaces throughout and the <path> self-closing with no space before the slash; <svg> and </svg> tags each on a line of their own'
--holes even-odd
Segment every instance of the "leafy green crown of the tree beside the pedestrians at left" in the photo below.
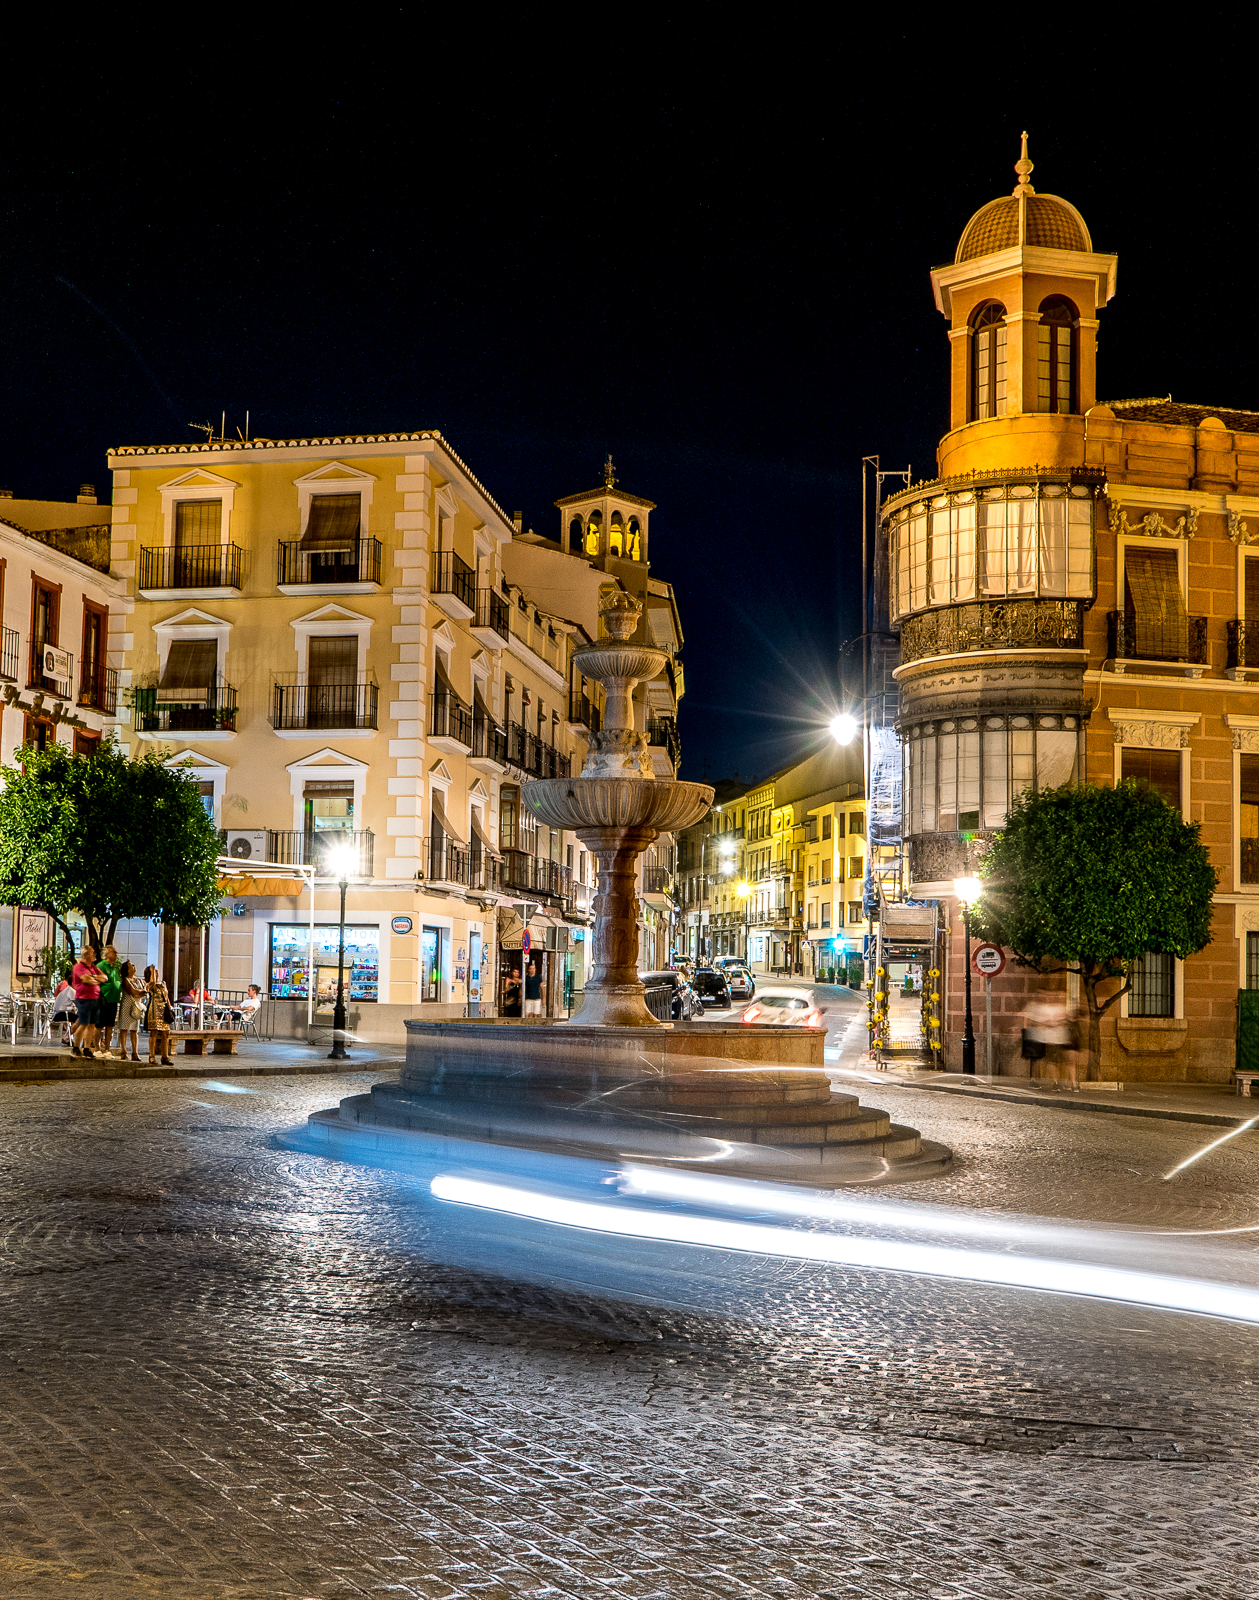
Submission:
<svg viewBox="0 0 1259 1600">
<path fill-rule="evenodd" d="M 0 904 L 46 910 L 67 941 L 82 912 L 98 950 L 123 918 L 203 928 L 218 915 L 218 829 L 160 754 L 50 744 L 18 760 L 0 789 Z"/>
</svg>

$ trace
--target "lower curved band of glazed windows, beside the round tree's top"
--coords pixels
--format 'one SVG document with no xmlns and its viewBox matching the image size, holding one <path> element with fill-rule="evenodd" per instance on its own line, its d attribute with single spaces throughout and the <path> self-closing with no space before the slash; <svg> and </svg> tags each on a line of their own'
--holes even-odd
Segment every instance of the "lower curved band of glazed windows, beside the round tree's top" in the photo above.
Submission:
<svg viewBox="0 0 1259 1600">
<path fill-rule="evenodd" d="M 1078 779 L 1078 717 L 968 717 L 904 730 L 905 832 L 1001 827 L 1025 789 Z"/>
</svg>

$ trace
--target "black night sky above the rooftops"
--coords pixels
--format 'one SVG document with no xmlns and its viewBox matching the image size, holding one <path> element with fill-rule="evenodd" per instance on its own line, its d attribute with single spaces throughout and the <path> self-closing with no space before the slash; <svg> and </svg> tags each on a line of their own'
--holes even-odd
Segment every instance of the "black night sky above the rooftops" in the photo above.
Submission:
<svg viewBox="0 0 1259 1600">
<path fill-rule="evenodd" d="M 1120 253 L 1101 397 L 1259 410 L 1237 13 L 1149 58 L 1035 18 L 968 42 L 760 14 L 720 45 L 705 11 L 665 48 L 362 16 L 370 51 L 346 13 L 10 86 L 0 483 L 106 491 L 107 446 L 248 408 L 272 437 L 437 427 L 554 536 L 611 450 L 678 592 L 683 776 L 749 776 L 835 710 L 859 459 L 933 469 L 928 272 L 1013 187 L 1022 126 L 1033 184 Z"/>
</svg>

